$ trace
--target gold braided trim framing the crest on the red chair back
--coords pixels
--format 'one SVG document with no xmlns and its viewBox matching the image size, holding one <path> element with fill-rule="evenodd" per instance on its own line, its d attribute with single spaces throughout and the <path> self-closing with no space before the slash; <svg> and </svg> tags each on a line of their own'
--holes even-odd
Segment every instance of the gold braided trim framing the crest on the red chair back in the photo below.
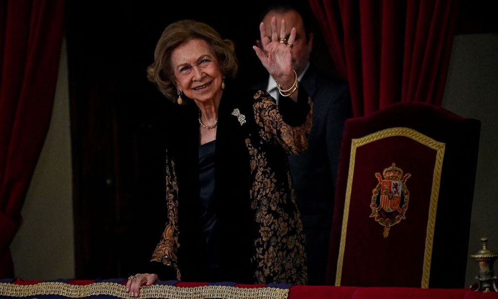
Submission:
<svg viewBox="0 0 498 299">
<path fill-rule="evenodd" d="M 431 199 L 429 203 L 429 219 L 427 221 L 427 230 L 425 235 L 426 237 L 425 237 L 425 249 L 424 249 L 424 266 L 422 269 L 422 280 L 421 280 L 421 288 L 427 289 L 429 287 L 432 246 L 434 240 L 434 226 L 436 223 L 436 210 L 437 210 L 437 201 L 439 197 L 439 185 L 441 184 L 441 169 L 443 167 L 444 150 L 446 145 L 444 143 L 435 141 L 434 139 L 425 136 L 413 129 L 403 128 L 403 127 L 389 128 L 364 136 L 359 139 L 351 140 L 351 153 L 350 153 L 350 162 L 349 162 L 349 171 L 348 171 L 348 182 L 346 185 L 346 198 L 344 203 L 343 224 L 342 224 L 341 241 L 340 241 L 341 243 L 339 246 L 339 256 L 337 260 L 336 283 L 335 283 L 336 286 L 341 286 L 344 250 L 346 246 L 346 233 L 348 229 L 349 206 L 351 201 L 351 190 L 353 186 L 353 174 L 355 170 L 355 161 L 356 161 L 356 149 L 366 144 L 372 143 L 374 141 L 393 136 L 402 136 L 402 137 L 411 138 L 431 149 L 436 150 L 436 162 L 434 165 L 434 173 L 432 176 Z"/>
</svg>

